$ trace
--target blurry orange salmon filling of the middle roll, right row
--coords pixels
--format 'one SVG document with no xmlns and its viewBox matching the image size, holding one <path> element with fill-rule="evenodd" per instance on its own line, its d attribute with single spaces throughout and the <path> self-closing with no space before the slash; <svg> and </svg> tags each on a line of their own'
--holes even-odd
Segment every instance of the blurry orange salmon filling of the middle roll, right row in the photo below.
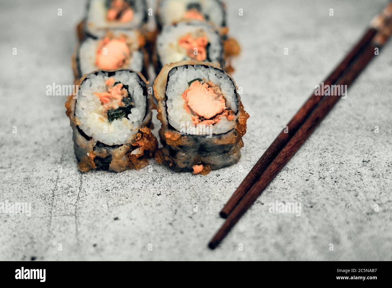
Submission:
<svg viewBox="0 0 392 288">
<path fill-rule="evenodd" d="M 207 37 L 193 36 L 191 33 L 178 40 L 178 45 L 185 49 L 189 58 L 196 61 L 204 61 L 207 58 L 207 44 Z"/>
</svg>

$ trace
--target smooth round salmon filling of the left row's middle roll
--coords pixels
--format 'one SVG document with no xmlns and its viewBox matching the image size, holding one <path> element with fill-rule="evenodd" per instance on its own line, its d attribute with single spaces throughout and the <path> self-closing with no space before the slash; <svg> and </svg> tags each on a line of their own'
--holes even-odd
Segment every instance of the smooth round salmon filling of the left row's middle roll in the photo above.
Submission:
<svg viewBox="0 0 392 288">
<path fill-rule="evenodd" d="M 118 69 L 127 63 L 131 53 L 124 37 L 105 37 L 99 43 L 95 57 L 95 65 L 99 69 Z"/>
</svg>

